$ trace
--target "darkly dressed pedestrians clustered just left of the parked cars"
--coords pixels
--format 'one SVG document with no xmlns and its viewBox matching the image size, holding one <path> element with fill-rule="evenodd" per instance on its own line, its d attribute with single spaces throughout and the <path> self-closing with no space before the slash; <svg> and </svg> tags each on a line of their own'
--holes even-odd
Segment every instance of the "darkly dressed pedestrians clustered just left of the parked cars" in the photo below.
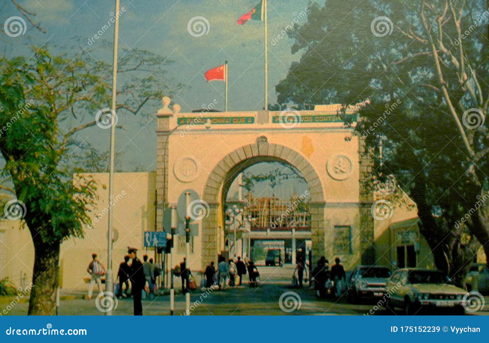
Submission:
<svg viewBox="0 0 489 343">
<path fill-rule="evenodd" d="M 346 281 L 346 273 L 339 257 L 334 258 L 331 270 L 329 261 L 324 256 L 319 258 L 311 276 L 314 279 L 314 289 L 318 297 L 341 296 L 341 283 Z"/>
</svg>

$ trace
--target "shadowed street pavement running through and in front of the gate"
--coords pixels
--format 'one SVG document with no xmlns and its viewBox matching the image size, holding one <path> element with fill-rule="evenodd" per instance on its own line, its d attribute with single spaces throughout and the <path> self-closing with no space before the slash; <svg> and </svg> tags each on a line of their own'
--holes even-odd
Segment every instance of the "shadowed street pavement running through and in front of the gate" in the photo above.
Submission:
<svg viewBox="0 0 489 343">
<path fill-rule="evenodd" d="M 191 315 L 386 315 L 383 307 L 375 303 L 349 304 L 346 297 L 341 299 L 317 299 L 309 282 L 304 288 L 291 286 L 293 269 L 290 267 L 258 267 L 261 282 L 250 288 L 244 278 L 244 285 L 226 290 L 194 290 L 191 295 Z M 291 293 L 293 292 L 293 293 Z M 281 299 L 282 297 L 282 299 Z M 81 293 L 74 293 L 61 301 L 60 315 L 104 315 L 96 305 L 96 295 L 92 300 L 81 299 Z M 489 297 L 485 307 L 476 314 L 489 315 Z M 116 301 L 114 315 L 132 315 L 132 299 Z M 5 305 L 0 304 L 0 310 Z M 8 315 L 25 315 L 28 303 L 17 303 Z M 103 305 L 99 303 L 103 310 Z M 170 297 L 161 295 L 153 300 L 143 300 L 144 315 L 169 315 Z M 185 297 L 175 297 L 175 315 L 185 314 Z M 396 311 L 395 315 L 401 315 Z"/>
</svg>

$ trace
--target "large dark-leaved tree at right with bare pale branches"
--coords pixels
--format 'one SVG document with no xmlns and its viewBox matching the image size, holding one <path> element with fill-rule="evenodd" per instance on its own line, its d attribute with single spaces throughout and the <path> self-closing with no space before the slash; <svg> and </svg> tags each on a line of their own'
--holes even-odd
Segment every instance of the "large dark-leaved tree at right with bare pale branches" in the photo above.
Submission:
<svg viewBox="0 0 489 343">
<path fill-rule="evenodd" d="M 395 175 L 437 267 L 461 282 L 474 237 L 489 256 L 487 1 L 310 8 L 290 34 L 303 54 L 276 87 L 278 103 L 365 102 L 356 132 L 375 162 L 370 181 Z"/>
</svg>

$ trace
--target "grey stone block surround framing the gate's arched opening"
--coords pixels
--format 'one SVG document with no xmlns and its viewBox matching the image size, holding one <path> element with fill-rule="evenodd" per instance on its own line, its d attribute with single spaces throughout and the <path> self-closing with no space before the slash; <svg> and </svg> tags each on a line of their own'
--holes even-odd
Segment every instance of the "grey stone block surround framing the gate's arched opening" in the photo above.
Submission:
<svg viewBox="0 0 489 343">
<path fill-rule="evenodd" d="M 229 185 L 244 169 L 260 162 L 282 162 L 297 169 L 308 183 L 311 204 L 311 240 L 313 256 L 324 253 L 324 205 L 321 180 L 306 158 L 299 152 L 280 144 L 267 142 L 261 136 L 256 143 L 228 153 L 210 172 L 202 200 L 209 205 L 209 215 L 202 220 L 202 266 L 214 259 L 220 249 L 216 237 L 219 232 L 220 204 L 225 201 Z"/>
</svg>

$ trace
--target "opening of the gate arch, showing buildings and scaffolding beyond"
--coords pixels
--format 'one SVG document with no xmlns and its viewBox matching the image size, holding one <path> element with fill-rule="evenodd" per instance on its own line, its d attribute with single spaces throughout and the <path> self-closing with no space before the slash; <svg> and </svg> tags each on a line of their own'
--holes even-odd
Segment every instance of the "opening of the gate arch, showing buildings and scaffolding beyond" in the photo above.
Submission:
<svg viewBox="0 0 489 343">
<path fill-rule="evenodd" d="M 311 251 L 311 190 L 292 164 L 272 156 L 232 168 L 222 188 L 222 254 L 256 265 L 294 265 Z"/>
</svg>

